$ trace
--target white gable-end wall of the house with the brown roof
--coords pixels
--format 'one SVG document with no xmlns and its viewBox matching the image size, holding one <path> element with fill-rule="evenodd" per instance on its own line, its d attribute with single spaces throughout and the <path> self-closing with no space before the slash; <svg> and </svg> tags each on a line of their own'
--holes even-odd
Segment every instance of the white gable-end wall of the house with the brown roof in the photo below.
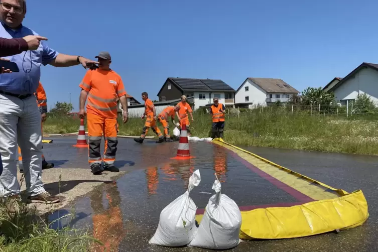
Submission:
<svg viewBox="0 0 378 252">
<path fill-rule="evenodd" d="M 245 90 L 248 87 L 248 90 Z M 248 97 L 248 101 L 245 100 Z M 261 87 L 247 79 L 235 94 L 235 103 L 252 103 L 266 105 L 267 93 Z"/>
</svg>

